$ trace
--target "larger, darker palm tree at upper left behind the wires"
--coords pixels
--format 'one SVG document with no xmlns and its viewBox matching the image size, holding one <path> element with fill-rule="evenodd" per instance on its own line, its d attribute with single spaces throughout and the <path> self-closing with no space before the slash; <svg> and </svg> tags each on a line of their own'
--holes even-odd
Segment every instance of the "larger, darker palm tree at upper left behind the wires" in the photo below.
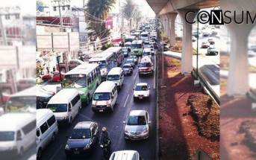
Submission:
<svg viewBox="0 0 256 160">
<path fill-rule="evenodd" d="M 105 20 L 107 19 L 108 11 L 116 3 L 116 0 L 89 0 L 86 5 L 86 19 L 88 20 L 89 28 L 96 32 L 97 36 L 102 38 L 107 36 Z"/>
</svg>

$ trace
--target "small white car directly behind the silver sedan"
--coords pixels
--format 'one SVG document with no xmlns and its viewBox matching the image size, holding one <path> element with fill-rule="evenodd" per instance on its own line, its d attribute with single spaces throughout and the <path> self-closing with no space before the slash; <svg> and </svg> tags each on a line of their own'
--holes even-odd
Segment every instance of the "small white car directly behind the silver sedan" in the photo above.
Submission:
<svg viewBox="0 0 256 160">
<path fill-rule="evenodd" d="M 134 100 L 150 98 L 150 86 L 148 83 L 137 83 L 134 88 Z"/>
</svg>

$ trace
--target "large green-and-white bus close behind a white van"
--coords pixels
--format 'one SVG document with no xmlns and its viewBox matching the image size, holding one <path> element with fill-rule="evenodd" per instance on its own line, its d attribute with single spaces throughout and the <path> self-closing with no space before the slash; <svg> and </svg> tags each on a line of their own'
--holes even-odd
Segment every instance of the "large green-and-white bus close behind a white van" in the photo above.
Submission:
<svg viewBox="0 0 256 160">
<path fill-rule="evenodd" d="M 78 89 L 81 101 L 88 104 L 101 81 L 99 64 L 85 63 L 64 75 L 62 88 Z"/>
</svg>

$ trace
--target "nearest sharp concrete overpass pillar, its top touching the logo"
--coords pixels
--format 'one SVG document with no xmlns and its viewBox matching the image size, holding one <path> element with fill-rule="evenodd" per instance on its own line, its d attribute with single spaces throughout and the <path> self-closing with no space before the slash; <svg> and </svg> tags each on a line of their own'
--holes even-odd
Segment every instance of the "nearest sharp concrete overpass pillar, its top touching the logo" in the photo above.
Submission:
<svg viewBox="0 0 256 160">
<path fill-rule="evenodd" d="M 192 25 L 188 22 L 193 22 L 196 14 L 187 14 L 187 21 L 185 19 L 186 13 L 191 10 L 178 10 L 181 16 L 183 26 L 182 37 L 182 54 L 181 54 L 181 74 L 190 74 L 193 71 L 193 46 L 192 46 Z M 193 10 L 197 13 L 199 10 Z"/>
</svg>

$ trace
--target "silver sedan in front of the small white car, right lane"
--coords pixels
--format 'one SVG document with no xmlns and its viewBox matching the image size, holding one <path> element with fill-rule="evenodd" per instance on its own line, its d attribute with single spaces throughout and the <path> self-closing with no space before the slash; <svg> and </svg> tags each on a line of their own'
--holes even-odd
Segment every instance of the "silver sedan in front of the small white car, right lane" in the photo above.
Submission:
<svg viewBox="0 0 256 160">
<path fill-rule="evenodd" d="M 149 113 L 145 110 L 131 110 L 125 124 L 125 139 L 140 140 L 149 138 Z"/>
</svg>

